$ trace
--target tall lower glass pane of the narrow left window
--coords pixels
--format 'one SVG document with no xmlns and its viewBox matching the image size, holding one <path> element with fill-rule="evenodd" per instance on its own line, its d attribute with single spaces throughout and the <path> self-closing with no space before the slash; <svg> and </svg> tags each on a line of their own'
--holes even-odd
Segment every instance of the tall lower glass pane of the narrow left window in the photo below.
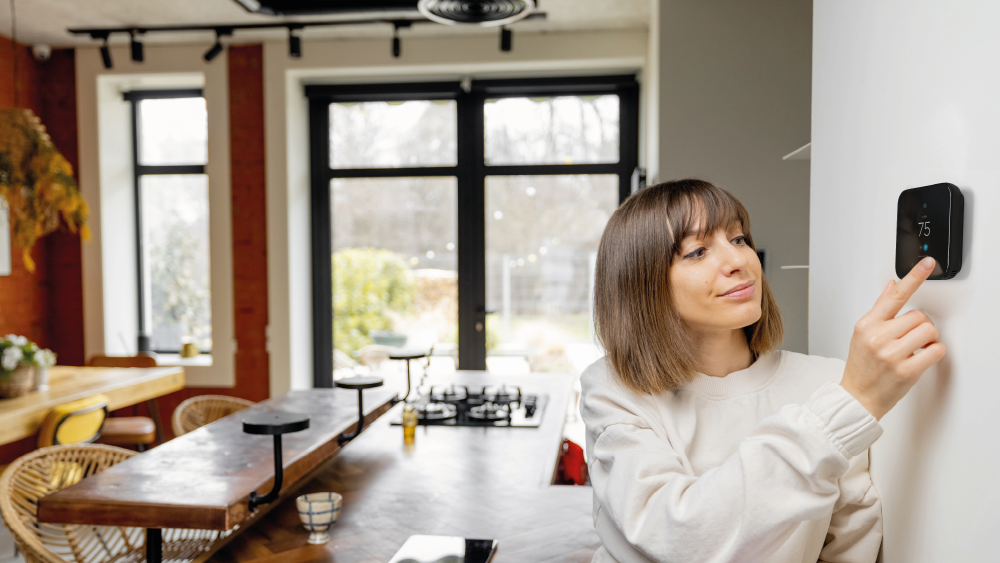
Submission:
<svg viewBox="0 0 1000 563">
<path fill-rule="evenodd" d="M 146 175 L 142 197 L 144 297 L 154 350 L 212 349 L 208 176 Z"/>
</svg>

